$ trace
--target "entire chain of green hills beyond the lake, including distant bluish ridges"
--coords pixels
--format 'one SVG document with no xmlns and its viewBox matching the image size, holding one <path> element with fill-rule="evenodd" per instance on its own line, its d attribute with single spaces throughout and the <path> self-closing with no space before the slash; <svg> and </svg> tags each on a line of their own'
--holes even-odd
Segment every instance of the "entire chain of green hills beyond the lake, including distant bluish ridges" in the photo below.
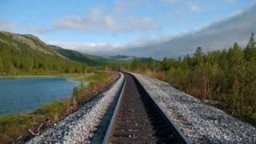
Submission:
<svg viewBox="0 0 256 144">
<path fill-rule="evenodd" d="M 77 73 L 88 66 L 109 63 L 130 63 L 136 57 L 126 55 L 96 56 L 83 54 L 59 46 L 47 45 L 31 34 L 13 34 L 0 31 L 0 75 Z M 147 62 L 150 58 L 139 58 Z M 85 65 L 86 64 L 86 65 Z"/>
</svg>

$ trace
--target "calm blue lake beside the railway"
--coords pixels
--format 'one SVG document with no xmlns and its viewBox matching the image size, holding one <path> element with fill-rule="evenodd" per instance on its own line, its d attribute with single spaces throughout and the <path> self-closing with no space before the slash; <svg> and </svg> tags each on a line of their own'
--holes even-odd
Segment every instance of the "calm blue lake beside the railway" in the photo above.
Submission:
<svg viewBox="0 0 256 144">
<path fill-rule="evenodd" d="M 46 102 L 69 97 L 78 85 L 68 78 L 0 79 L 0 114 L 35 110 Z"/>
</svg>

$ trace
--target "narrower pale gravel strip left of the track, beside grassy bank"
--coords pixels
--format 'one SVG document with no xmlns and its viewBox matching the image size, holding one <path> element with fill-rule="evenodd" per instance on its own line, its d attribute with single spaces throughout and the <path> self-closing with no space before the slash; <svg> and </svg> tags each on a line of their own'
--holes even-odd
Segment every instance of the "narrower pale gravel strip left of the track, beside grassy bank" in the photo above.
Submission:
<svg viewBox="0 0 256 144">
<path fill-rule="evenodd" d="M 27 143 L 90 143 L 90 138 L 117 95 L 123 80 L 124 75 L 121 74 L 109 90 Z"/>
</svg>

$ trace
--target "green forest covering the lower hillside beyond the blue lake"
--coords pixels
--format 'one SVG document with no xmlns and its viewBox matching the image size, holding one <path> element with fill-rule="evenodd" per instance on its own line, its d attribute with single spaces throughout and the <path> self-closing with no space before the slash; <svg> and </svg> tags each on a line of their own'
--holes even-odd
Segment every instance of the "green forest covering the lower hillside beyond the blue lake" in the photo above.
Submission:
<svg viewBox="0 0 256 144">
<path fill-rule="evenodd" d="M 11 42 L 0 41 L 0 75 L 80 73 L 86 70 L 86 64 L 44 54 L 31 49 L 26 43 L 15 42 L 12 45 Z"/>
</svg>

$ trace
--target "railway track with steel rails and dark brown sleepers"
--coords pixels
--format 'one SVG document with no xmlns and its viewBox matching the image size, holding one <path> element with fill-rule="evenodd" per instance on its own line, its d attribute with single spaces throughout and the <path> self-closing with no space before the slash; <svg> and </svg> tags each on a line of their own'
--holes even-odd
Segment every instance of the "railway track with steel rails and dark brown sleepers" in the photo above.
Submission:
<svg viewBox="0 0 256 144">
<path fill-rule="evenodd" d="M 138 80 L 125 75 L 103 143 L 190 143 Z"/>
</svg>

